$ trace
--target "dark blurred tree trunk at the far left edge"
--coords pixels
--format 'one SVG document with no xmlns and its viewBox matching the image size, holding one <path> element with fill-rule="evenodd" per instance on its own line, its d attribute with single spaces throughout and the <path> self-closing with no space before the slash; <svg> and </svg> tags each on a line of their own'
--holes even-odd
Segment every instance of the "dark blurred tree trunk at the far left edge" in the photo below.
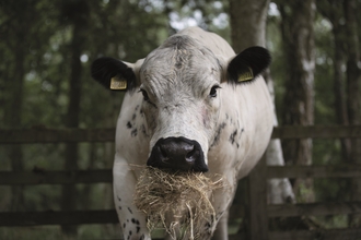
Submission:
<svg viewBox="0 0 361 240">
<path fill-rule="evenodd" d="M 20 129 L 22 128 L 26 51 L 30 47 L 30 41 L 24 41 L 24 39 L 31 34 L 30 29 L 34 20 L 34 9 L 32 9 L 32 2 L 25 5 L 19 5 L 18 2 L 7 2 L 3 3 L 1 8 L 9 14 L 4 17 L 9 17 L 9 21 L 2 23 L 0 35 L 11 36 L 11 38 L 2 38 L 11 56 L 9 56 L 9 58 L 3 56 L 3 58 L 7 59 L 7 61 L 4 61 L 7 69 L 3 69 L 3 71 L 0 70 L 1 73 L 5 73 L 5 75 L 2 75 L 4 84 L 3 89 L 1 89 L 1 98 L 3 101 L 3 121 L 1 125 L 8 129 Z M 16 13 L 16 17 L 12 16 L 15 15 L 13 14 L 14 12 Z M 4 148 L 4 157 L 9 159 L 12 171 L 16 172 L 23 170 L 22 145 L 7 146 Z M 22 185 L 11 187 L 9 209 L 24 209 Z"/>
</svg>

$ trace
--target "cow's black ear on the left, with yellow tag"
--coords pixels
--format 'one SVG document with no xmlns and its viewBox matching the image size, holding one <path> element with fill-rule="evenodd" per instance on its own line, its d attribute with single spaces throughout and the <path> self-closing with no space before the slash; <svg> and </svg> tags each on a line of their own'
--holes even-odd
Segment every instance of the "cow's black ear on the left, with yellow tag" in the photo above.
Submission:
<svg viewBox="0 0 361 240">
<path fill-rule="evenodd" d="M 92 77 L 114 91 L 128 91 L 136 86 L 136 74 L 131 68 L 114 58 L 98 58 L 92 64 Z"/>
</svg>

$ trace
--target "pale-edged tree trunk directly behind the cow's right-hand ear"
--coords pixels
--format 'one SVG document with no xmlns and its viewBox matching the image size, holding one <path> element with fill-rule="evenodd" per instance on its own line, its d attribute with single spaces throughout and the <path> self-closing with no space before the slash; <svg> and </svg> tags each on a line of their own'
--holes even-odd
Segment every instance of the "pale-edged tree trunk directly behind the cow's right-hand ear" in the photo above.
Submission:
<svg viewBox="0 0 361 240">
<path fill-rule="evenodd" d="M 236 52 L 252 46 L 266 46 L 266 20 L 269 2 L 269 0 L 230 1 L 232 43 Z M 265 74 L 265 80 L 267 81 L 275 106 L 273 81 L 270 77 L 269 71 Z M 275 125 L 278 125 L 276 110 Z M 270 141 L 267 147 L 266 158 L 268 165 L 284 165 L 280 140 Z M 267 185 L 268 203 L 294 202 L 294 194 L 288 179 L 270 179 Z"/>
</svg>

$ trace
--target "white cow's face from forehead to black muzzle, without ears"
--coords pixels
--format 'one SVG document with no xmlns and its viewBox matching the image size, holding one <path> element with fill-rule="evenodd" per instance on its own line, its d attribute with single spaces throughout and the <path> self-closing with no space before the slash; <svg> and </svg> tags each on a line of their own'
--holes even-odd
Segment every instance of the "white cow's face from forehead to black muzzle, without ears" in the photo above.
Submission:
<svg viewBox="0 0 361 240">
<path fill-rule="evenodd" d="M 207 152 L 220 111 L 222 73 L 210 50 L 187 41 L 159 48 L 144 60 L 140 92 L 152 135 L 148 165 L 208 170 Z"/>
</svg>

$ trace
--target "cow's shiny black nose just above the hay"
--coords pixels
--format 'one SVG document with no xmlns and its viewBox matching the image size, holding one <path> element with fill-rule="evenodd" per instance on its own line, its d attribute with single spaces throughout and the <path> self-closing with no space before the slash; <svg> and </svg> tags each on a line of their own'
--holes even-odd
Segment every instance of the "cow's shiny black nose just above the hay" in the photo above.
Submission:
<svg viewBox="0 0 361 240">
<path fill-rule="evenodd" d="M 153 146 L 147 165 L 180 171 L 208 171 L 201 146 L 197 141 L 186 137 L 160 139 Z"/>
</svg>

